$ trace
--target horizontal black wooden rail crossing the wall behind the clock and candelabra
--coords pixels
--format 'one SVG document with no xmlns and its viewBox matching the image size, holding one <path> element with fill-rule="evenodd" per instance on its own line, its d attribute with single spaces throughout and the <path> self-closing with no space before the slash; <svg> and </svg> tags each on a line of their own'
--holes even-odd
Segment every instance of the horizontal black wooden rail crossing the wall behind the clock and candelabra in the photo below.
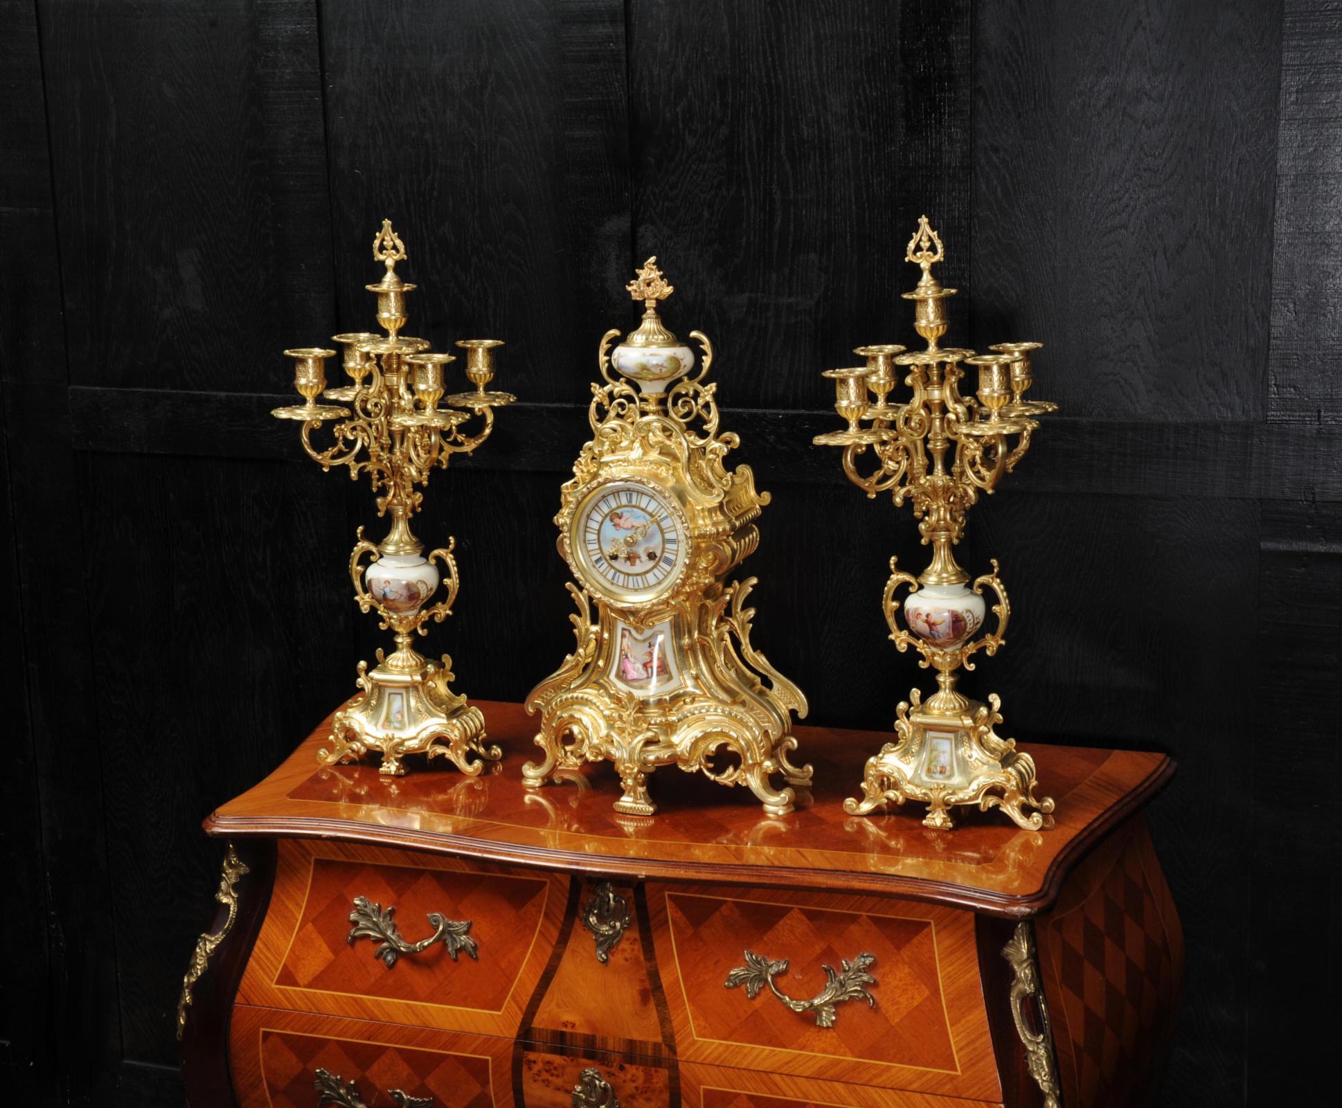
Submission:
<svg viewBox="0 0 1342 1108">
<path fill-rule="evenodd" d="M 75 443 L 98 453 L 301 457 L 293 428 L 268 416 L 271 408 L 286 401 L 279 393 L 70 392 Z M 839 452 L 811 445 L 812 436 L 840 427 L 832 412 L 733 405 L 722 405 L 722 412 L 723 427 L 742 437 L 741 457 L 756 467 L 762 480 L 845 483 Z M 519 402 L 501 412 L 486 447 L 452 465 L 562 474 L 588 437 L 585 406 Z M 1342 500 L 1342 427 L 1049 416 L 1029 456 L 1004 488 L 1216 500 Z"/>
</svg>

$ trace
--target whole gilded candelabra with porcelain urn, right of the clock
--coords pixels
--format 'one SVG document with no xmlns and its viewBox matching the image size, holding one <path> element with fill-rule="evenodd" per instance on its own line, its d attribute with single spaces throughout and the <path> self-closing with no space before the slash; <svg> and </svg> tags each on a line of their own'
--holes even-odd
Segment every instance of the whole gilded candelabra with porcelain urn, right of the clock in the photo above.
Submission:
<svg viewBox="0 0 1342 1108">
<path fill-rule="evenodd" d="M 1027 400 L 1032 384 L 1031 354 L 1037 342 L 1004 342 L 990 354 L 974 354 L 937 343 L 946 333 L 946 299 L 954 288 L 942 288 L 931 267 L 945 256 L 941 239 L 918 221 L 909 241 L 906 262 L 922 270 L 918 287 L 905 292 L 914 302 L 914 329 L 927 342 L 926 350 L 903 346 L 859 346 L 866 365 L 832 369 L 835 409 L 848 421 L 845 431 L 816 436 L 817 445 L 843 447 L 848 479 L 868 498 L 890 492 L 895 504 L 911 502 L 923 545 L 933 549 L 931 565 L 917 578 L 890 559 L 891 575 L 882 598 L 890 637 L 899 651 L 914 647 L 918 663 L 937 671 L 937 692 L 925 703 L 919 689 L 896 708 L 896 740 L 867 761 L 862 798 L 849 798 L 844 809 L 866 814 L 888 802 L 911 798 L 927 804 L 923 820 L 930 828 L 951 828 L 950 808 L 977 804 L 982 810 L 1001 808 L 1023 828 L 1051 824 L 1053 801 L 1035 794 L 1035 761 L 993 730 L 1001 723 L 996 694 L 982 704 L 956 689 L 956 671 L 973 669 L 978 651 L 994 655 L 1005 644 L 1011 602 L 993 571 L 973 581 L 957 563 L 951 547 L 965 533 L 965 512 L 980 492 L 993 492 L 1029 449 L 1039 427 L 1035 416 L 1056 410 L 1049 401 Z M 978 372 L 977 400 L 962 397 L 958 382 L 964 366 Z M 896 370 L 907 373 L 906 398 L 891 397 Z M 866 463 L 866 465 L 863 464 Z M 905 621 L 895 613 L 895 594 L 907 586 Z M 984 624 L 984 589 L 997 598 L 996 628 L 974 634 Z M 1037 809 L 1027 814 L 1025 809 Z"/>
</svg>

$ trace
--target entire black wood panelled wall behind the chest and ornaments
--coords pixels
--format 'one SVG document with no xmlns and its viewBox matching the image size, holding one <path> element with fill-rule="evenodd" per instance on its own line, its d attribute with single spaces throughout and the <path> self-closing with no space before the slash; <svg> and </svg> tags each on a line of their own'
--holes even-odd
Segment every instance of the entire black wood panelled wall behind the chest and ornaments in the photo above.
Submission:
<svg viewBox="0 0 1342 1108">
<path fill-rule="evenodd" d="M 821 723 L 887 726 L 909 514 L 843 483 L 821 369 L 1037 338 L 1063 402 L 968 565 L 1019 620 L 976 675 L 1033 743 L 1182 769 L 1151 809 L 1188 939 L 1162 1103 L 1308 1103 L 1342 960 L 1342 5 L 1325 0 L 0 0 L 0 1068 L 23 1104 L 181 1100 L 211 808 L 350 689 L 370 496 L 267 410 L 286 346 L 507 339 L 506 409 L 429 490 L 476 698 L 566 649 L 550 518 L 596 342 L 656 254 L 774 494 L 757 641 Z"/>
</svg>

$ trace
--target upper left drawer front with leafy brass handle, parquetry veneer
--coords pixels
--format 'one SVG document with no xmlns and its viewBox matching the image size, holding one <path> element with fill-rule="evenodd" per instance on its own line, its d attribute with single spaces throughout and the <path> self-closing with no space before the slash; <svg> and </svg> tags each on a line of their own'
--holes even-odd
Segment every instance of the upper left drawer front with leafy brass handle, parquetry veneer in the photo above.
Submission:
<svg viewBox="0 0 1342 1108">
<path fill-rule="evenodd" d="M 554 948 L 568 888 L 566 875 L 282 841 L 239 1001 L 511 1037 Z"/>
</svg>

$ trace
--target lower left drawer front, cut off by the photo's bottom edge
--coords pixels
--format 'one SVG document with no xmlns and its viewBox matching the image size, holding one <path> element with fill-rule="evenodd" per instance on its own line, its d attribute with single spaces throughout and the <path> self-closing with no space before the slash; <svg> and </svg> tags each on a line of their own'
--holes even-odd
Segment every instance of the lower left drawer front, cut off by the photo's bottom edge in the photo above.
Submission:
<svg viewBox="0 0 1342 1108">
<path fill-rule="evenodd" d="M 236 1005 L 229 1040 L 242 1108 L 318 1108 L 318 1078 L 368 1108 L 396 1108 L 395 1092 L 433 1097 L 432 1108 L 514 1104 L 502 1038 Z"/>
</svg>

